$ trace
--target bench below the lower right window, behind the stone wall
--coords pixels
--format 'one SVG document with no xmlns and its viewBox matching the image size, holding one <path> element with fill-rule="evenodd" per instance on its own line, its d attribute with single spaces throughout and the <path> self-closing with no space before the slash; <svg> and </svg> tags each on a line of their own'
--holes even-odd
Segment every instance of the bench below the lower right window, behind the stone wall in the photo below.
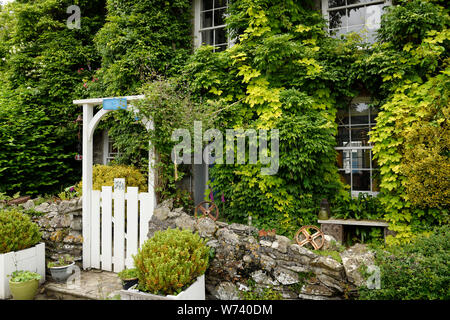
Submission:
<svg viewBox="0 0 450 320">
<path fill-rule="evenodd" d="M 320 229 L 324 234 L 330 235 L 339 243 L 344 243 L 344 226 L 362 226 L 362 227 L 382 227 L 384 228 L 384 240 L 388 235 L 395 235 L 389 230 L 389 223 L 384 220 L 356 220 L 356 219 L 334 219 L 318 220 Z"/>
</svg>

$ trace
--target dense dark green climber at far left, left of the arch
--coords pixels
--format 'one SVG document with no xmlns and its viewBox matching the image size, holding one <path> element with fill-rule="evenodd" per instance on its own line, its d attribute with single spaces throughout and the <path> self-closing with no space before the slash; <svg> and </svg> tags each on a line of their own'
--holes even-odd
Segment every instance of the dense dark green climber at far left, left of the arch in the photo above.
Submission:
<svg viewBox="0 0 450 320">
<path fill-rule="evenodd" d="M 81 9 L 81 29 L 67 27 L 73 4 Z M 53 193 L 79 179 L 80 110 L 72 101 L 80 98 L 80 69 L 100 62 L 92 38 L 104 5 L 14 1 L 0 12 L 0 192 Z"/>
</svg>

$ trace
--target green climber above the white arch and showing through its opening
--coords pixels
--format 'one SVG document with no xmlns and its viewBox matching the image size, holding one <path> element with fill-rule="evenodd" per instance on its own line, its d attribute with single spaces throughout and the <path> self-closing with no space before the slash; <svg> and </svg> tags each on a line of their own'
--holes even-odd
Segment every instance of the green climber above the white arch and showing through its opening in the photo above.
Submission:
<svg viewBox="0 0 450 320">
<path fill-rule="evenodd" d="M 145 83 L 176 75 L 192 52 L 191 0 L 108 0 L 106 23 L 95 36 L 102 57 L 90 97 L 142 93 Z M 129 113 L 114 113 L 109 129 L 120 150 L 116 162 L 148 169 L 148 136 Z M 130 130 L 131 128 L 131 130 Z"/>
</svg>

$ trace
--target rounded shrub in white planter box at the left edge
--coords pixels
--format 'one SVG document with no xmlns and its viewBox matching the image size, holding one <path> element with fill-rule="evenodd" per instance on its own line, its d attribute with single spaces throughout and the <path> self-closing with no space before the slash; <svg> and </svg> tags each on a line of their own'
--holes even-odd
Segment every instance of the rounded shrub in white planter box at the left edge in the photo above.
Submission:
<svg viewBox="0 0 450 320">
<path fill-rule="evenodd" d="M 10 297 L 8 276 L 16 270 L 39 273 L 45 281 L 45 244 L 30 217 L 17 209 L 0 210 L 0 299 Z"/>
</svg>

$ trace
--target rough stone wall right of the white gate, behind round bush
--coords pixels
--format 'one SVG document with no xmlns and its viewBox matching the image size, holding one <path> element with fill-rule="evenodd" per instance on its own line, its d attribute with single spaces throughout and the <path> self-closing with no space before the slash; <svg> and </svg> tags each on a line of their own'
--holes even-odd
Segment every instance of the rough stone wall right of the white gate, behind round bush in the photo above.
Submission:
<svg viewBox="0 0 450 320">
<path fill-rule="evenodd" d="M 341 263 L 284 236 L 258 239 L 251 226 L 197 220 L 166 201 L 155 209 L 148 236 L 169 227 L 197 231 L 215 249 L 206 273 L 209 298 L 239 299 L 240 290 L 249 290 L 249 279 L 256 288 L 271 287 L 284 299 L 348 298 L 363 282 L 358 267 L 373 264 L 373 254 L 363 245 L 342 252 Z"/>
</svg>

